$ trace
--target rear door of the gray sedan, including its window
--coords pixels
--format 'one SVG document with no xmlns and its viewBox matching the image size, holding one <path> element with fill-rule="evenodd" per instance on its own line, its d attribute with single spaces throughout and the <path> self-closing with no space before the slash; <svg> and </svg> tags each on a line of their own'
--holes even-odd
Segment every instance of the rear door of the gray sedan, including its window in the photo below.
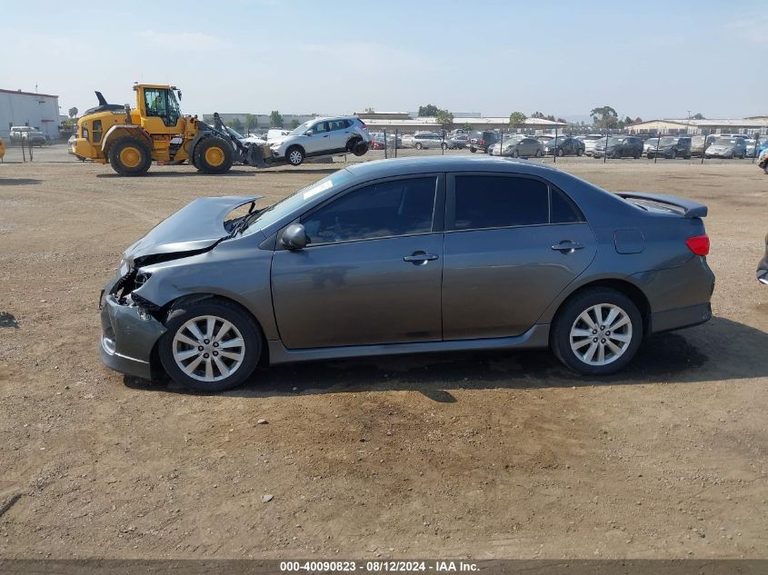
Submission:
<svg viewBox="0 0 768 575">
<path fill-rule="evenodd" d="M 596 249 L 583 214 L 544 180 L 449 174 L 444 340 L 525 332 L 592 262 Z"/>
</svg>

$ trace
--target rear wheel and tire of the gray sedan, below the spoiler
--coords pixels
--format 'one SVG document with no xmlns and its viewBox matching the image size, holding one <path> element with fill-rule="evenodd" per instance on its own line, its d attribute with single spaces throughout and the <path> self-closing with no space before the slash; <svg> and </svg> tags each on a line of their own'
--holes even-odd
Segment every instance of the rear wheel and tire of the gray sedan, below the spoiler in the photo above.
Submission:
<svg viewBox="0 0 768 575">
<path fill-rule="evenodd" d="M 643 318 L 622 292 L 592 288 L 557 312 L 550 346 L 561 362 L 582 375 L 608 375 L 631 362 L 643 339 Z"/>
</svg>

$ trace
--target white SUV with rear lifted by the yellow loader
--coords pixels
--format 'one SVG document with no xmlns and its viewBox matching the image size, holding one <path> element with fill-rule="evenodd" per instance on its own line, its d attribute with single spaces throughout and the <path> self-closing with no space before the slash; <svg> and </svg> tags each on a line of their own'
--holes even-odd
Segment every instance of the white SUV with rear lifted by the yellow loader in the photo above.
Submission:
<svg viewBox="0 0 768 575">
<path fill-rule="evenodd" d="M 368 127 L 360 118 L 350 115 L 314 118 L 269 144 L 275 160 L 299 165 L 304 158 L 364 155 L 370 143 Z"/>
</svg>

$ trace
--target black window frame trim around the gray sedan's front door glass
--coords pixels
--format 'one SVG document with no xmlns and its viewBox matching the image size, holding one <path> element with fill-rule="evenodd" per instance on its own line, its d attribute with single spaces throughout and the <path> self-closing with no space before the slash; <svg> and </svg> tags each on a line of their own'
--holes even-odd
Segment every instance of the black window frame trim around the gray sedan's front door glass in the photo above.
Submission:
<svg viewBox="0 0 768 575">
<path fill-rule="evenodd" d="M 360 190 L 361 188 L 367 187 L 369 185 L 375 185 L 378 183 L 396 182 L 397 180 L 413 180 L 416 178 L 435 178 L 434 206 L 432 211 L 432 229 L 429 232 L 399 233 L 397 235 L 382 235 L 375 238 L 360 238 L 356 240 L 343 240 L 341 242 L 307 243 L 306 247 L 304 247 L 304 250 L 308 250 L 316 247 L 329 246 L 329 245 L 344 245 L 346 243 L 375 242 L 378 240 L 389 240 L 392 238 L 405 238 L 405 237 L 415 237 L 419 235 L 432 235 L 434 233 L 443 233 L 444 232 L 444 215 L 445 215 L 445 173 L 442 173 L 442 172 L 407 173 L 407 174 L 399 174 L 396 176 L 387 176 L 384 178 L 376 178 L 374 180 L 368 180 L 367 182 L 355 183 L 353 186 L 350 186 L 345 190 L 341 190 L 338 193 L 335 193 L 332 197 L 327 198 L 323 203 L 318 203 L 317 205 L 314 205 L 312 208 L 300 214 L 299 216 L 295 217 L 291 222 L 286 223 L 282 228 L 280 228 L 280 230 L 278 230 L 276 234 L 278 241 L 274 249 L 275 250 L 288 249 L 283 245 L 283 243 L 279 241 L 280 237 L 283 235 L 285 228 L 287 228 L 292 223 L 304 222 L 304 220 L 307 217 L 323 209 L 329 203 L 333 203 L 336 200 L 343 198 L 347 193 L 353 193 L 357 190 Z"/>
</svg>

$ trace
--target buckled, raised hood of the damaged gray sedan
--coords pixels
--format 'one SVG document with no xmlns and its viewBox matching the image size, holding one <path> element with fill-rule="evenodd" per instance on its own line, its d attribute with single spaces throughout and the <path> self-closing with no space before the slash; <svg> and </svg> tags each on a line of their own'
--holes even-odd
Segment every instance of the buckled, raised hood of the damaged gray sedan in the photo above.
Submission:
<svg viewBox="0 0 768 575">
<path fill-rule="evenodd" d="M 210 249 L 229 235 L 224 227 L 226 214 L 262 197 L 224 195 L 197 198 L 155 225 L 149 233 L 125 250 L 125 262 L 132 265 L 135 260 L 148 255 L 182 254 Z"/>
</svg>

